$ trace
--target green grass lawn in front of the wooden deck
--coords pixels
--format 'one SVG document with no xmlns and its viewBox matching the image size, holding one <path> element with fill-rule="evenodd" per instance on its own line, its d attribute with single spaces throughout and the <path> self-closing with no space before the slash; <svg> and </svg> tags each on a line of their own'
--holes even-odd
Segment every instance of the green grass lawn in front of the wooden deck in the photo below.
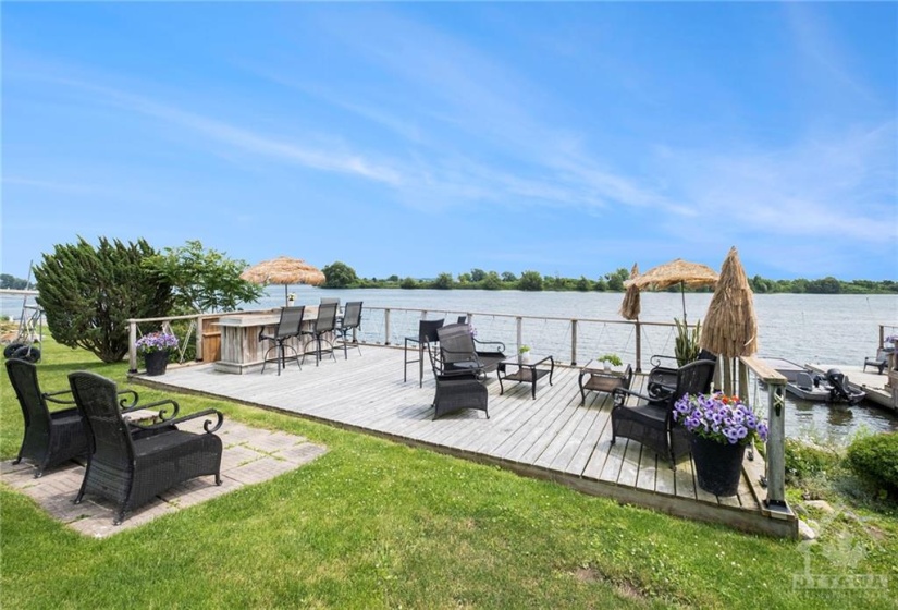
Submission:
<svg viewBox="0 0 898 610">
<path fill-rule="evenodd" d="M 52 341 L 38 366 L 45 391 L 66 388 L 76 369 L 125 386 L 127 369 Z M 10 460 L 22 415 L 5 368 L 0 376 L 0 456 Z M 163 396 L 135 389 L 142 401 Z M 3 608 L 896 607 L 894 512 L 831 499 L 834 517 L 812 515 L 825 522 L 821 541 L 778 540 L 296 417 L 173 398 L 183 412 L 214 406 L 225 426 L 286 430 L 329 452 L 107 539 L 73 533 L 0 486 Z M 805 565 L 842 577 L 839 587 L 794 587 Z M 888 586 L 846 588 L 869 574 Z"/>
</svg>

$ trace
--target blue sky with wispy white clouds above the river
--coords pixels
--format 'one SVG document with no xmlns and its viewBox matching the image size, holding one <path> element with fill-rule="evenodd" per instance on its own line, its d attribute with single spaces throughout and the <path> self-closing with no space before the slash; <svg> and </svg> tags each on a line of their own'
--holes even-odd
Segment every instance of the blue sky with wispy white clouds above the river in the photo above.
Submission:
<svg viewBox="0 0 898 610">
<path fill-rule="evenodd" d="M 2 4 L 2 270 L 898 278 L 896 3 Z"/>
</svg>

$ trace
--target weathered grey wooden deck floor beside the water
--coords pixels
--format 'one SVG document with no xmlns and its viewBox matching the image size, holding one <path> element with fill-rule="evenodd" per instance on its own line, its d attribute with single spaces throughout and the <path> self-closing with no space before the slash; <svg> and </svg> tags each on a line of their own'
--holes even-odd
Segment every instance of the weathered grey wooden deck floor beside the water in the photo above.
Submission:
<svg viewBox="0 0 898 610">
<path fill-rule="evenodd" d="M 776 536 L 797 535 L 795 518 L 777 518 L 763 505 L 760 454 L 746 460 L 737 496 L 704 492 L 696 485 L 691 460 L 673 471 L 636 441 L 619 439 L 612 444 L 611 396 L 588 392 L 580 406 L 578 368 L 556 365 L 553 385 L 549 386 L 548 377 L 541 379 L 536 400 L 528 383 L 506 385 L 500 395 L 492 376 L 489 419 L 482 412 L 462 412 L 433 420 L 434 385 L 429 370 L 423 388 L 418 388 L 417 365 L 409 365 L 408 381 L 403 382 L 402 350 L 362 345 L 361 352 L 350 351 L 348 361 L 337 354 L 336 362 L 324 359 L 318 367 L 313 357 L 307 357 L 302 370 L 288 363 L 281 376 L 273 367 L 265 375 L 232 375 L 198 364 L 170 366 L 164 376 L 135 375 L 132 380 L 374 434 L 679 516 Z M 635 377 L 633 387 L 642 381 L 641 376 Z"/>
</svg>

